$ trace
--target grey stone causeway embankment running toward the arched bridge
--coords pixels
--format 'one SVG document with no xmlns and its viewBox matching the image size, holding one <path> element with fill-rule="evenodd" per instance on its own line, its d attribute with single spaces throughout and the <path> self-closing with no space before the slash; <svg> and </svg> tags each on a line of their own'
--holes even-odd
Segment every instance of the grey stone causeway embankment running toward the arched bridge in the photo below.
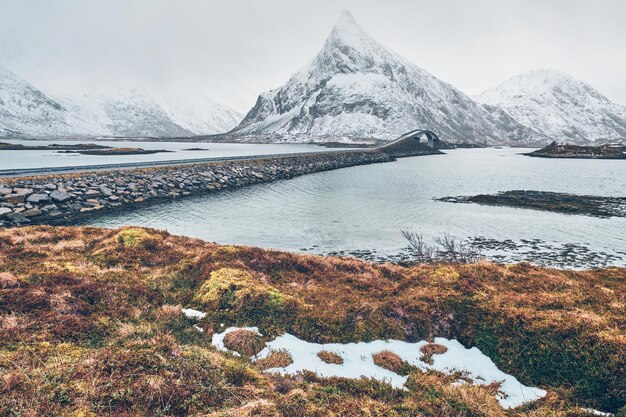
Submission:
<svg viewBox="0 0 626 417">
<path fill-rule="evenodd" d="M 0 180 L 0 225 L 71 224 L 78 218 L 163 199 L 390 162 L 376 151 L 233 160 Z"/>
</svg>

